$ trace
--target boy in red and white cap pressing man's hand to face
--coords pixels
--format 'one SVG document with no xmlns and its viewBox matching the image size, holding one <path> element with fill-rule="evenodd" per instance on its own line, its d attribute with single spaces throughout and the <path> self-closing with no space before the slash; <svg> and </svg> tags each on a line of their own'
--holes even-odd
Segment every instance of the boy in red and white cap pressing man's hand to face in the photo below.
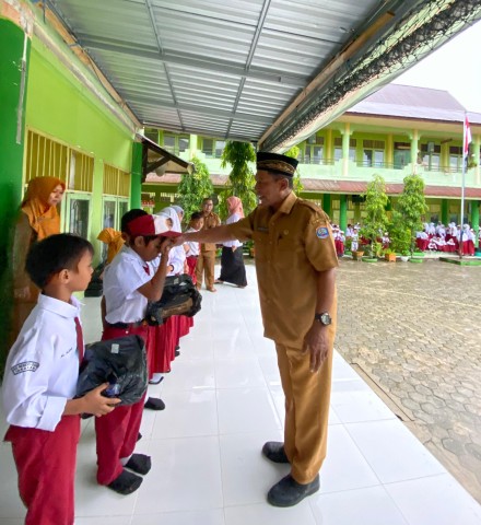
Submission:
<svg viewBox="0 0 481 525">
<path fill-rule="evenodd" d="M 132 211 L 132 210 L 131 210 Z M 171 231 L 165 217 L 142 214 L 126 224 L 127 242 L 104 273 L 105 324 L 103 340 L 138 335 L 145 340 L 149 361 L 149 330 L 144 320 L 148 301 L 162 296 L 167 273 Z M 154 271 L 151 261 L 162 255 Z M 142 421 L 144 399 L 120 406 L 107 418 L 95 420 L 97 481 L 119 494 L 136 491 L 151 468 L 151 458 L 133 454 Z M 124 468 L 125 467 L 125 468 Z M 133 474 L 129 470 L 133 470 Z"/>
</svg>

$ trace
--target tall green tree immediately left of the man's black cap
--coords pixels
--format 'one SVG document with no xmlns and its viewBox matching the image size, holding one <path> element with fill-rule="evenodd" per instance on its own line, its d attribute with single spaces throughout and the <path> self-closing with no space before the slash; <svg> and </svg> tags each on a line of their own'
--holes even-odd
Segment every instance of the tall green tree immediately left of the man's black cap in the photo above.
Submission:
<svg viewBox="0 0 481 525">
<path fill-rule="evenodd" d="M 257 206 L 254 186 L 256 180 L 249 163 L 256 162 L 256 150 L 250 142 L 237 142 L 227 140 L 222 152 L 222 167 L 232 166 L 228 174 L 228 183 L 221 191 L 220 214 L 225 219 L 228 214 L 226 199 L 231 196 L 238 197 L 243 201 L 244 213 L 247 215 Z"/>
</svg>

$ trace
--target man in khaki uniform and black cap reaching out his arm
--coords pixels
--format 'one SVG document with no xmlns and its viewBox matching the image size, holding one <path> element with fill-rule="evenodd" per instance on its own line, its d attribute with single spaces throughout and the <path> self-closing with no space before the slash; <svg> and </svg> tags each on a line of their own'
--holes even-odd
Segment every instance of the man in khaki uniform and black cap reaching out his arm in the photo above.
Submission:
<svg viewBox="0 0 481 525">
<path fill-rule="evenodd" d="M 292 506 L 319 489 L 326 457 L 332 347 L 336 334 L 336 255 L 329 219 L 292 191 L 297 161 L 257 154 L 259 206 L 241 221 L 187 234 L 186 240 L 253 238 L 265 336 L 275 341 L 285 395 L 284 443 L 262 454 L 290 463 L 268 501 Z"/>
</svg>

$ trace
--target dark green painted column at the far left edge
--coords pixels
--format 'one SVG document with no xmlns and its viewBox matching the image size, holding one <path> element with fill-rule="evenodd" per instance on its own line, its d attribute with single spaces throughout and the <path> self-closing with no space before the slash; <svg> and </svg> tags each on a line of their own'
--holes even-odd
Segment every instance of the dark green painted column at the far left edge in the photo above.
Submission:
<svg viewBox="0 0 481 525">
<path fill-rule="evenodd" d="M 12 299 L 11 246 L 22 198 L 25 106 L 31 42 L 22 27 L 0 19 L 0 374 L 7 357 Z"/>
</svg>

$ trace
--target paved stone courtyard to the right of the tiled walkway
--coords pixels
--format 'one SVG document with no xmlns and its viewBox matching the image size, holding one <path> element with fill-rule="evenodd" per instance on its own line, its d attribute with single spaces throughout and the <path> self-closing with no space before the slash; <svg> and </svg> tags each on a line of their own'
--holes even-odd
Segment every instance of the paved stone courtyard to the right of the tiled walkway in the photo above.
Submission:
<svg viewBox="0 0 481 525">
<path fill-rule="evenodd" d="M 338 282 L 336 348 L 481 502 L 481 268 L 344 258 Z"/>
</svg>

